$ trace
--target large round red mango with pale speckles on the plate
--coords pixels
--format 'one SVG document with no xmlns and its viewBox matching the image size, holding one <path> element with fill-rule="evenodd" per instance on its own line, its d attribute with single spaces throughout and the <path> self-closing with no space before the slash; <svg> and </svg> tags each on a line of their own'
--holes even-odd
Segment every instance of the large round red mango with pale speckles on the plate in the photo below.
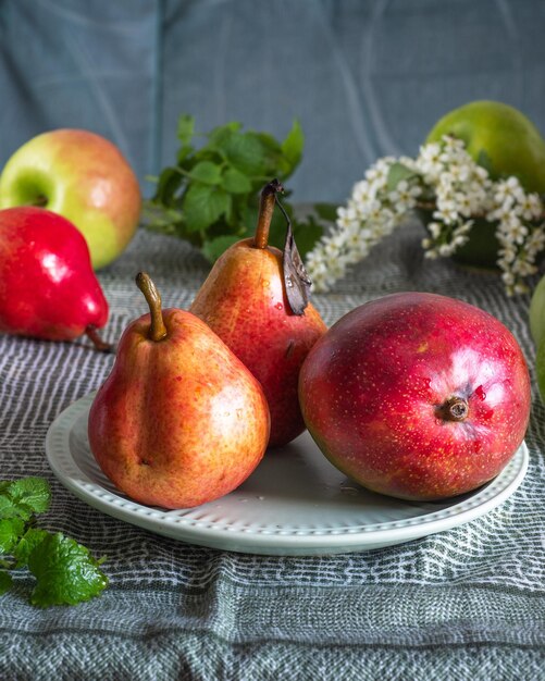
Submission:
<svg viewBox="0 0 545 681">
<path fill-rule="evenodd" d="M 385 296 L 342 318 L 299 376 L 330 461 L 391 496 L 441 499 L 492 480 L 520 446 L 530 377 L 511 333 L 467 302 Z"/>
</svg>

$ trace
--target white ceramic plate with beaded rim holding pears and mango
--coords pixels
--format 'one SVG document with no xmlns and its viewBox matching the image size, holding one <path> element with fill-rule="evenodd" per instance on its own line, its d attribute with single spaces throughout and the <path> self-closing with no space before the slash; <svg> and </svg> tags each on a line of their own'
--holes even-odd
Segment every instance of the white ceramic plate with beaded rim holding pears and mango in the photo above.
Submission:
<svg viewBox="0 0 545 681">
<path fill-rule="evenodd" d="M 305 433 L 267 454 L 235 492 L 169 511 L 132 502 L 103 475 L 87 439 L 92 398 L 71 405 L 49 429 L 46 451 L 53 473 L 80 499 L 114 518 L 212 548 L 308 556 L 408 542 L 490 511 L 517 490 L 528 468 L 523 443 L 503 472 L 475 492 L 441 503 L 402 502 L 351 482 Z"/>
</svg>

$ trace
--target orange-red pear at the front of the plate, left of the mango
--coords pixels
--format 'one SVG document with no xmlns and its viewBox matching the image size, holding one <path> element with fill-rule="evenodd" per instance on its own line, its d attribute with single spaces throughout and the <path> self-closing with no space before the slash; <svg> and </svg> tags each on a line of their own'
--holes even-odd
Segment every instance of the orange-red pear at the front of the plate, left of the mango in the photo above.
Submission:
<svg viewBox="0 0 545 681">
<path fill-rule="evenodd" d="M 119 344 L 112 372 L 89 413 L 92 454 L 133 499 L 190 508 L 243 483 L 269 439 L 258 381 L 201 320 L 161 310 L 149 276 L 137 285 L 150 314 Z"/>
</svg>

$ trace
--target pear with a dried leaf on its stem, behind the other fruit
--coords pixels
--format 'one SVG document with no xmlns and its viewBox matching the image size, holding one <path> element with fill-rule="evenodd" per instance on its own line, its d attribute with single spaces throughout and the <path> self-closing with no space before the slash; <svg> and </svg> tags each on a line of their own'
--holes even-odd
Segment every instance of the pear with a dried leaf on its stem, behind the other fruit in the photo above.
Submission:
<svg viewBox="0 0 545 681">
<path fill-rule="evenodd" d="M 310 282 L 290 231 L 284 257 L 268 245 L 280 190 L 277 181 L 264 187 L 255 238 L 236 243 L 219 258 L 189 308 L 263 386 L 271 412 L 269 446 L 286 444 L 305 430 L 297 396 L 299 369 L 326 331 L 319 312 L 307 305 L 308 292 L 301 294 L 301 278 L 304 285 Z M 289 301 L 288 288 L 302 295 L 300 306 Z"/>
</svg>

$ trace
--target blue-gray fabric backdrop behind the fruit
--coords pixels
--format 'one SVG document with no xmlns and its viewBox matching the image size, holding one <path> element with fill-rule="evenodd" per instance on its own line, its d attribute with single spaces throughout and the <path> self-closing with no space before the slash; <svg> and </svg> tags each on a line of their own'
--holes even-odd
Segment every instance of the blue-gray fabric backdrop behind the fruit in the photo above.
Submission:
<svg viewBox="0 0 545 681">
<path fill-rule="evenodd" d="M 0 165 L 29 137 L 86 127 L 146 175 L 178 114 L 283 136 L 294 200 L 338 200 L 385 153 L 413 153 L 473 99 L 545 132 L 543 0 L 0 0 Z"/>
</svg>

